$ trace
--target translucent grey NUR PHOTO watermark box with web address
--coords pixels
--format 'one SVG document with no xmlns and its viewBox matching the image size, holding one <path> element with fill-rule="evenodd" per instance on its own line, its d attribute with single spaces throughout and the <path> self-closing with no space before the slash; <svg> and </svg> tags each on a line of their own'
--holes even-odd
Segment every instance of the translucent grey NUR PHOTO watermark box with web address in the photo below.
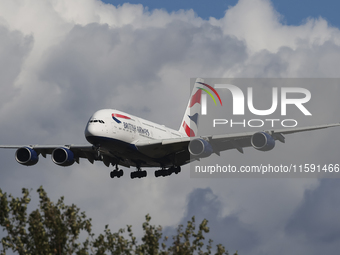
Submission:
<svg viewBox="0 0 340 255">
<path fill-rule="evenodd" d="M 189 117 L 197 128 L 189 143 L 191 177 L 340 177 L 334 141 L 340 128 L 303 130 L 339 122 L 340 79 L 192 79 L 191 85 Z"/>
</svg>

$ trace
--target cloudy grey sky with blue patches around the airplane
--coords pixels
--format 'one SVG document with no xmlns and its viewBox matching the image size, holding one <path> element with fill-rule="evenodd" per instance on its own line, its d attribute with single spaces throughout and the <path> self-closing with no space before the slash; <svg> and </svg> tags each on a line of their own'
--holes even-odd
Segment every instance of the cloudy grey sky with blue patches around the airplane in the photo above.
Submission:
<svg viewBox="0 0 340 255">
<path fill-rule="evenodd" d="M 103 108 L 178 129 L 193 77 L 339 78 L 335 1 L 299 1 L 303 8 L 269 0 L 158 2 L 0 1 L 0 143 L 86 144 L 85 125 Z M 315 124 L 339 119 L 339 88 L 311 89 L 327 99 L 311 102 Z M 337 137 L 335 129 L 291 135 L 270 152 L 228 151 L 205 162 L 338 163 Z M 196 215 L 209 220 L 215 244 L 239 254 L 340 248 L 338 179 L 191 178 L 185 166 L 167 178 L 149 169 L 148 178 L 131 180 L 126 169 L 112 180 L 101 162 L 58 167 L 41 157 L 25 167 L 14 154 L 0 151 L 3 191 L 19 196 L 22 187 L 43 185 L 54 201 L 63 195 L 86 211 L 96 233 L 131 224 L 141 236 L 150 213 L 171 234 Z M 32 208 L 37 202 L 32 192 Z"/>
</svg>

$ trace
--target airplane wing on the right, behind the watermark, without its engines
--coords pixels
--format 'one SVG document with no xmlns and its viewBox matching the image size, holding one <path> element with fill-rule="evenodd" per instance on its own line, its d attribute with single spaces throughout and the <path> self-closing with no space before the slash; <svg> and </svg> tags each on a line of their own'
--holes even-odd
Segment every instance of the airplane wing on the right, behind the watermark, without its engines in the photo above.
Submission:
<svg viewBox="0 0 340 255">
<path fill-rule="evenodd" d="M 286 128 L 286 129 L 278 129 L 278 130 L 266 130 L 263 131 L 270 136 L 272 136 L 275 140 L 279 140 L 280 142 L 285 142 L 285 134 L 292 134 L 304 131 L 312 131 L 317 129 L 324 129 L 329 127 L 340 126 L 340 123 L 335 124 L 327 124 L 327 125 L 318 125 L 318 126 L 310 126 L 310 127 L 302 127 L 302 128 Z M 257 131 L 259 132 L 259 131 Z M 246 132 L 246 133 L 234 133 L 234 134 L 223 134 L 223 135 L 212 135 L 212 136 L 201 136 L 201 137 L 182 137 L 182 138 L 174 138 L 174 139 L 163 139 L 163 140 L 152 140 L 152 141 L 139 141 L 135 145 L 137 149 L 150 156 L 150 157 L 174 157 L 175 161 L 180 164 L 189 163 L 192 160 L 195 160 L 194 157 L 191 157 L 188 151 L 188 145 L 191 140 L 194 139 L 204 139 L 213 148 L 213 152 L 218 154 L 221 151 L 237 149 L 239 152 L 243 153 L 243 148 L 251 147 L 251 137 L 257 132 Z"/>
</svg>

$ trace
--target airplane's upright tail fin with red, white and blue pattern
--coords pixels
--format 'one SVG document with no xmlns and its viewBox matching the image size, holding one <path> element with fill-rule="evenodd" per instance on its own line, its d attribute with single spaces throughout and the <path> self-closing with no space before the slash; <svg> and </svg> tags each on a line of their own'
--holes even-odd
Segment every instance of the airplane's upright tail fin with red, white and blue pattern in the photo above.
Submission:
<svg viewBox="0 0 340 255">
<path fill-rule="evenodd" d="M 198 117 L 201 111 L 202 98 L 202 90 L 199 88 L 203 87 L 201 83 L 204 83 L 204 80 L 197 78 L 181 126 L 179 127 L 179 132 L 189 137 L 197 136 L 198 133 Z"/>
</svg>

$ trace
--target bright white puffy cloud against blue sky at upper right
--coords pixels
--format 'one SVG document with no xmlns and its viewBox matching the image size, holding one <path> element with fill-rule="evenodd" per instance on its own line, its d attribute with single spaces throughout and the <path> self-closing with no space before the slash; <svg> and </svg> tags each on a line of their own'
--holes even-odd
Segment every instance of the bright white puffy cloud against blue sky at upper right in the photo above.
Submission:
<svg viewBox="0 0 340 255">
<path fill-rule="evenodd" d="M 212 18 L 211 23 L 220 26 L 224 34 L 243 40 L 250 53 L 276 53 L 281 47 L 295 50 L 301 44 L 322 45 L 329 40 L 339 45 L 339 30 L 322 18 L 307 19 L 299 26 L 284 25 L 282 20 L 269 0 L 240 0 L 222 19 Z"/>
</svg>

